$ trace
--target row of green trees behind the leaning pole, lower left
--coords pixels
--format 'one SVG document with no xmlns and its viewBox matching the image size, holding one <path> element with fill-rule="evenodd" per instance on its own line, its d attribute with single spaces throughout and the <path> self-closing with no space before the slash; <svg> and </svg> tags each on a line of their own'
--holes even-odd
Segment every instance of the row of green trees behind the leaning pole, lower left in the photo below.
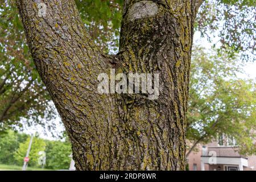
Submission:
<svg viewBox="0 0 256 182">
<path fill-rule="evenodd" d="M 38 152 L 46 152 L 46 166 L 48 169 L 68 169 L 72 154 L 71 144 L 67 136 L 63 136 L 65 142 L 60 140 L 43 140 L 34 137 L 30 152 L 30 167 L 38 166 Z M 12 130 L 0 135 L 0 164 L 18 165 L 21 169 L 23 159 L 26 155 L 30 136 L 17 133 Z M 15 169 L 16 169 L 15 168 Z"/>
</svg>

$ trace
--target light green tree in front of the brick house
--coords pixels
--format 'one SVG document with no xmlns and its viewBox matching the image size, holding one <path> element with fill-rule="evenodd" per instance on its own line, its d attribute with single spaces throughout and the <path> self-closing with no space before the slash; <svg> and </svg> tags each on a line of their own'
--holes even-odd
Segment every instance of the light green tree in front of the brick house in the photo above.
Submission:
<svg viewBox="0 0 256 182">
<path fill-rule="evenodd" d="M 196 48 L 189 90 L 187 156 L 197 144 L 225 133 L 234 137 L 242 154 L 255 154 L 255 80 L 242 80 L 241 65 L 214 51 Z"/>
</svg>

